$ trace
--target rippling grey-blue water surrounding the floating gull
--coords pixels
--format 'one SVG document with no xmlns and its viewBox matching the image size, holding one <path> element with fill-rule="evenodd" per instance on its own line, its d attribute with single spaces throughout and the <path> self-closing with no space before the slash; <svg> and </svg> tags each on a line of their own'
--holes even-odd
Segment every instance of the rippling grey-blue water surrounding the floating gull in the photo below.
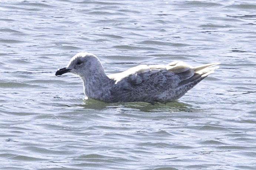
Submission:
<svg viewBox="0 0 256 170">
<path fill-rule="evenodd" d="M 0 169 L 256 169 L 256 3 L 0 3 Z M 139 64 L 221 62 L 167 104 L 83 101 L 54 77 L 77 52 L 106 73 Z"/>
</svg>

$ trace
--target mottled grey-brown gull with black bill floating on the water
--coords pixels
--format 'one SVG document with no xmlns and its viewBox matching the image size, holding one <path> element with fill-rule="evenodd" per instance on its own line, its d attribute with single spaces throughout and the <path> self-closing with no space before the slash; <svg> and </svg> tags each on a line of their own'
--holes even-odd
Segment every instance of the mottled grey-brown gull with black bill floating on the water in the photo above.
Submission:
<svg viewBox="0 0 256 170">
<path fill-rule="evenodd" d="M 138 65 L 124 72 L 106 75 L 99 58 L 91 53 L 77 53 L 67 67 L 57 70 L 77 74 L 83 80 L 87 98 L 107 103 L 170 102 L 219 68 L 219 63 L 192 67 L 180 61 L 167 65 Z M 215 67 L 213 67 L 215 66 Z"/>
</svg>

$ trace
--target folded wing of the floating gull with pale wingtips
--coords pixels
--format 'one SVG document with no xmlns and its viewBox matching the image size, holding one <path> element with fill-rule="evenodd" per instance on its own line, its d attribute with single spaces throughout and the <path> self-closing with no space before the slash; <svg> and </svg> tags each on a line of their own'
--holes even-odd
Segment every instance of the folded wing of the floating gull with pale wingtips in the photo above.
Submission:
<svg viewBox="0 0 256 170">
<path fill-rule="evenodd" d="M 110 74 L 108 77 L 115 81 L 115 84 L 126 82 L 131 85 L 141 84 L 144 81 L 158 83 L 163 86 L 166 83 L 173 83 L 176 87 L 203 79 L 213 73 L 219 67 L 213 67 L 219 63 L 210 63 L 200 66 L 190 66 L 183 62 L 171 62 L 168 65 L 139 65 L 124 72 Z"/>
</svg>

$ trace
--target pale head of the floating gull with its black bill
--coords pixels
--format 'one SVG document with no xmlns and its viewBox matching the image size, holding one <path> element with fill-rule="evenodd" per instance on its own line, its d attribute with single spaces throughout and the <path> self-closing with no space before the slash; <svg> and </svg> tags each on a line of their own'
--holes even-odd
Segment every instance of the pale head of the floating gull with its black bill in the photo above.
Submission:
<svg viewBox="0 0 256 170">
<path fill-rule="evenodd" d="M 55 76 L 70 72 L 77 74 L 80 77 L 86 77 L 90 74 L 102 71 L 104 72 L 100 60 L 95 55 L 87 52 L 80 52 L 70 59 L 67 67 L 59 69 L 55 73 Z"/>
</svg>

